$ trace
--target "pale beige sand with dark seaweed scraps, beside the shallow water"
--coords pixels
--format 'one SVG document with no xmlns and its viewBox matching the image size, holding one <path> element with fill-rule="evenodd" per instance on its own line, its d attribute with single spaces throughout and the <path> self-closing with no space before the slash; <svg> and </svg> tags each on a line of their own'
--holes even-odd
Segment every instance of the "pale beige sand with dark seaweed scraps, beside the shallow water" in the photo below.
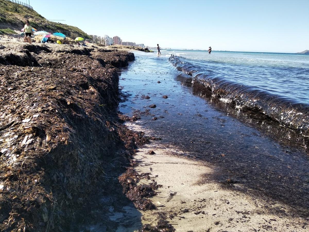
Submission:
<svg viewBox="0 0 309 232">
<path fill-rule="evenodd" d="M 136 123 L 126 125 L 146 131 Z M 149 154 L 150 150 L 155 154 Z M 215 167 L 185 158 L 175 147 L 151 143 L 139 148 L 134 159 L 138 161 L 136 171 L 150 172 L 163 185 L 150 198 L 157 210 L 141 212 L 143 224 L 155 225 L 167 217 L 176 231 L 308 231 L 308 220 L 287 216 L 289 206 L 271 205 L 205 179 Z M 147 182 L 151 180 L 140 183 Z"/>
</svg>

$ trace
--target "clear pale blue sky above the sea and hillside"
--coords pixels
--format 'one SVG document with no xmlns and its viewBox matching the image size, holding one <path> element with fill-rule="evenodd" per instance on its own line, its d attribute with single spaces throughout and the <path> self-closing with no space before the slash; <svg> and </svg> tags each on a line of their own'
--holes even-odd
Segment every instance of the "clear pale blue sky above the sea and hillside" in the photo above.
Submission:
<svg viewBox="0 0 309 232">
<path fill-rule="evenodd" d="M 309 0 L 79 2 L 30 0 L 30 5 L 45 18 L 65 19 L 62 23 L 88 34 L 149 46 L 291 53 L 309 49 Z"/>
</svg>

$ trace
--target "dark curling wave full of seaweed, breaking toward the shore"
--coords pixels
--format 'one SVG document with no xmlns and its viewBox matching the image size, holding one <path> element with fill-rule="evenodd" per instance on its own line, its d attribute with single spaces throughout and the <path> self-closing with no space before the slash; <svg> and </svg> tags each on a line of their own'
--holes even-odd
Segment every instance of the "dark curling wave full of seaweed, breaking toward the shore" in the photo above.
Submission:
<svg viewBox="0 0 309 232">
<path fill-rule="evenodd" d="M 260 112 L 283 126 L 309 134 L 309 105 L 281 97 L 256 87 L 246 86 L 224 78 L 207 74 L 183 57 L 171 55 L 169 61 L 177 70 L 192 76 L 192 80 L 205 86 L 205 91 L 226 101 L 232 101 L 239 108 L 250 108 Z"/>
</svg>

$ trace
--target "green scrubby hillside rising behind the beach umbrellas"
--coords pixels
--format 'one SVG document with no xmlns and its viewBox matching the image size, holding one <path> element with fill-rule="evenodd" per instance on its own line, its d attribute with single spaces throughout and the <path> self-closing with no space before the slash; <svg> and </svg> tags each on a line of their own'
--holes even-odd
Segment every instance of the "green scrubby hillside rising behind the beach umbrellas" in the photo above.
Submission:
<svg viewBox="0 0 309 232">
<path fill-rule="evenodd" d="M 90 39 L 90 36 L 78 27 L 48 21 L 42 15 L 26 6 L 7 0 L 0 0 L 0 35 L 13 33 L 12 30 L 20 31 L 24 27 L 26 19 L 38 31 L 61 32 L 74 39 L 79 36 Z"/>
</svg>

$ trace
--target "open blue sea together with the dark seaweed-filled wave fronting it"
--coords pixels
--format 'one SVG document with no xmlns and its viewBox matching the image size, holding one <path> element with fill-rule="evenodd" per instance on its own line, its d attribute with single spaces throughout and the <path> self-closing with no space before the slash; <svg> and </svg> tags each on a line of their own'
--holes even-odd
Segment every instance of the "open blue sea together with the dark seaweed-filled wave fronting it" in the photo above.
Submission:
<svg viewBox="0 0 309 232">
<path fill-rule="evenodd" d="M 308 132 L 308 55 L 165 50 L 163 56 L 214 95 Z"/>
</svg>

